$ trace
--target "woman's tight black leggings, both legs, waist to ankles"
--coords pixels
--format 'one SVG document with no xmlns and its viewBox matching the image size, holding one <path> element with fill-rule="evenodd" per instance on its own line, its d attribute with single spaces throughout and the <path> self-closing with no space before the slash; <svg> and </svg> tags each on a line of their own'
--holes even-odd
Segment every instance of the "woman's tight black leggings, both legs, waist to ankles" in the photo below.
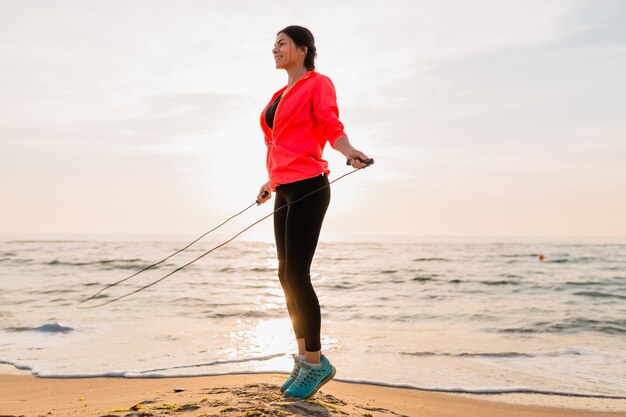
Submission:
<svg viewBox="0 0 626 417">
<path fill-rule="evenodd" d="M 278 252 L 278 278 L 285 293 L 287 311 L 297 339 L 304 338 L 309 352 L 321 350 L 320 304 L 311 285 L 311 262 L 317 247 L 324 215 L 330 203 L 330 187 L 293 203 L 298 198 L 328 185 L 328 177 L 282 184 L 276 187 L 274 236 Z"/>
</svg>

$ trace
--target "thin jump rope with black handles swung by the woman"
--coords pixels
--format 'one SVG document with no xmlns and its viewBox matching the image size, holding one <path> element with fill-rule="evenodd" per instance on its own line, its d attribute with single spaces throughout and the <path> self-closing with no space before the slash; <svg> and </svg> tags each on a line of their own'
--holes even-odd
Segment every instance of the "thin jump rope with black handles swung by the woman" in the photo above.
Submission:
<svg viewBox="0 0 626 417">
<path fill-rule="evenodd" d="M 308 196 L 310 196 L 310 195 L 312 195 L 312 194 L 315 194 L 315 193 L 317 193 L 318 191 L 321 191 L 321 190 L 323 190 L 323 189 L 325 189 L 325 188 L 330 187 L 330 185 L 331 185 L 332 183 L 334 183 L 334 182 L 336 182 L 336 181 L 339 181 L 340 179 L 342 179 L 342 178 L 344 178 L 344 177 L 347 177 L 347 176 L 348 176 L 348 175 L 350 175 L 350 174 L 354 174 L 355 172 L 357 172 L 357 171 L 359 171 L 359 170 L 361 170 L 361 169 L 363 169 L 363 168 L 367 168 L 368 166 L 370 166 L 370 165 L 373 165 L 373 164 L 374 164 L 374 160 L 373 160 L 372 158 L 367 159 L 367 160 L 362 160 L 362 159 L 360 159 L 360 158 L 357 158 L 357 160 L 358 160 L 359 162 L 364 163 L 364 164 L 365 164 L 365 166 L 364 166 L 364 167 L 361 167 L 361 168 L 355 168 L 354 170 L 352 170 L 352 171 L 350 171 L 350 172 L 347 172 L 347 173 L 345 173 L 345 174 L 341 175 L 340 177 L 335 178 L 334 180 L 330 181 L 328 184 L 323 185 L 322 187 L 319 187 L 319 188 L 317 188 L 317 189 L 315 189 L 315 190 L 313 190 L 313 191 L 309 192 L 308 194 L 303 195 L 302 197 L 298 198 L 298 199 L 297 199 L 297 200 L 295 200 L 295 201 L 292 201 L 291 203 L 283 204 L 283 205 L 282 205 L 282 206 L 280 206 L 279 208 L 277 208 L 277 209 L 275 209 L 274 211 L 272 211 L 270 214 L 268 214 L 268 215 L 266 215 L 266 216 L 264 216 L 264 217 L 260 218 L 259 220 L 257 220 L 257 221 L 255 221 L 254 223 L 250 224 L 250 225 L 249 225 L 249 226 L 247 226 L 246 228 L 242 229 L 240 232 L 238 232 L 237 234 L 235 234 L 235 235 L 234 235 L 233 237 L 231 237 L 230 239 L 228 239 L 228 240 L 226 240 L 226 241 L 224 241 L 224 242 L 220 243 L 219 245 L 217 245 L 217 246 L 215 246 L 215 247 L 211 248 L 210 250 L 208 250 L 208 251 L 204 252 L 202 255 L 200 255 L 200 256 L 198 256 L 197 258 L 195 258 L 195 259 L 193 259 L 193 260 L 191 260 L 191 261 L 187 262 L 186 264 L 184 264 L 184 265 L 182 265 L 182 266 L 180 266 L 180 267 L 176 268 L 176 269 L 175 269 L 175 270 L 173 270 L 172 272 L 168 273 L 167 275 L 164 275 L 163 277 L 161 277 L 161 278 L 157 279 L 156 281 L 152 281 L 151 283 L 149 283 L 149 284 L 147 284 L 147 285 L 144 285 L 143 287 L 137 288 L 136 290 L 133 290 L 133 291 L 127 292 L 127 293 L 125 293 L 125 294 L 120 295 L 119 297 L 113 298 L 113 299 L 111 299 L 111 300 L 107 300 L 107 301 L 105 301 L 105 302 L 103 302 L 103 303 L 96 304 L 96 305 L 90 305 L 90 306 L 83 306 L 83 304 L 85 304 L 86 302 L 91 301 L 91 300 L 93 300 L 93 299 L 97 298 L 100 294 L 102 294 L 103 292 L 105 292 L 105 291 L 106 291 L 106 290 L 108 290 L 109 288 L 115 287 L 116 285 L 121 284 L 122 282 L 128 281 L 129 279 L 136 277 L 137 275 L 141 274 L 142 272 L 145 272 L 145 271 L 147 271 L 147 270 L 149 270 L 149 269 L 152 269 L 152 268 L 154 268 L 155 266 L 160 265 L 160 264 L 162 264 L 163 262 L 167 261 L 167 260 L 168 260 L 168 259 L 170 259 L 171 257 L 173 257 L 173 256 L 175 256 L 175 255 L 178 255 L 179 253 L 181 253 L 181 252 L 183 252 L 183 251 L 185 251 L 185 250 L 189 249 L 189 248 L 190 248 L 193 244 L 195 244 L 196 242 L 198 242 L 200 239 L 202 239 L 203 237 L 205 237 L 205 236 L 206 236 L 206 235 L 208 235 L 209 233 L 211 233 L 211 232 L 213 232 L 213 231 L 215 231 L 215 230 L 219 229 L 220 227 L 222 227 L 223 225 L 225 225 L 226 223 L 228 223 L 230 220 L 232 220 L 232 219 L 234 219 L 235 217 L 237 217 L 237 216 L 239 216 L 239 215 L 243 214 L 244 212 L 246 212 L 247 210 L 249 210 L 249 209 L 250 209 L 250 208 L 252 208 L 253 206 L 261 204 L 261 203 L 259 202 L 259 200 L 257 199 L 254 203 L 250 204 L 248 207 L 244 208 L 243 210 L 241 210 L 241 211 L 240 211 L 240 212 L 238 212 L 237 214 L 234 214 L 234 215 L 230 216 L 228 219 L 224 220 L 224 221 L 223 221 L 222 223 L 220 223 L 218 226 L 215 226 L 213 229 L 211 229 L 211 230 L 209 230 L 208 232 L 204 233 L 203 235 L 201 235 L 200 237 L 198 237 L 197 239 L 195 239 L 194 241 L 192 241 L 191 243 L 189 243 L 189 244 L 188 244 L 187 246 L 185 246 L 184 248 L 179 249 L 179 250 L 177 250 L 176 252 L 172 253 L 172 254 L 171 254 L 170 256 L 168 256 L 167 258 L 163 258 L 163 259 L 161 259 L 159 262 L 153 263 L 152 265 L 149 265 L 149 266 L 147 266 L 147 267 L 143 268 L 142 270 L 140 270 L 140 271 L 138 271 L 138 272 L 135 272 L 134 274 L 132 274 L 132 275 L 130 275 L 130 276 L 128 276 L 128 277 L 126 277 L 126 278 L 124 278 L 124 279 L 121 279 L 121 280 L 119 280 L 119 281 L 116 281 L 116 282 L 113 282 L 113 283 L 111 283 L 111 284 L 109 284 L 109 285 L 106 285 L 106 286 L 105 286 L 105 287 L 103 287 L 100 291 L 98 291 L 97 293 L 95 293 L 94 295 L 92 295 L 91 297 L 89 297 L 89 298 L 85 298 L 83 301 L 81 301 L 80 303 L 78 303 L 78 304 L 76 305 L 76 308 L 78 308 L 78 309 L 82 309 L 82 310 L 87 310 L 87 309 L 91 309 L 91 308 L 98 308 L 98 307 L 102 307 L 102 306 L 105 306 L 105 305 L 107 305 L 107 304 L 111 304 L 111 303 L 114 303 L 114 302 L 116 302 L 116 301 L 119 301 L 119 300 L 121 300 L 121 299 L 123 299 L 123 298 L 129 297 L 129 296 L 131 296 L 131 295 L 133 295 L 133 294 L 137 294 L 138 292 L 143 291 L 143 290 L 145 290 L 145 289 L 147 289 L 147 288 L 150 288 L 150 287 L 152 287 L 153 285 L 156 285 L 156 284 L 158 284 L 159 282 L 163 281 L 164 279 L 166 279 L 166 278 L 168 278 L 168 277 L 170 277 L 170 276 L 174 275 L 176 272 L 180 271 L 181 269 L 184 269 L 184 268 L 188 267 L 189 265 L 193 264 L 194 262 L 196 262 L 196 261 L 198 261 L 198 260 L 200 260 L 200 259 L 204 258 L 205 256 L 207 256 L 207 255 L 208 255 L 208 254 L 210 254 L 211 252 L 213 252 L 213 251 L 215 251 L 215 250 L 217 250 L 217 249 L 221 248 L 222 246 L 225 246 L 225 245 L 227 245 L 228 243 L 232 242 L 232 241 L 233 241 L 233 240 L 235 240 L 238 236 L 240 236 L 242 233 L 244 233 L 244 232 L 245 232 L 245 231 L 247 231 L 248 229 L 250 229 L 250 228 L 252 228 L 252 227 L 256 226 L 257 224 L 261 223 L 263 220 L 265 220 L 265 219 L 267 219 L 268 217 L 272 216 L 272 215 L 273 215 L 274 213 L 276 213 L 277 211 L 282 210 L 283 208 L 287 207 L 287 206 L 288 206 L 288 205 L 290 205 L 290 204 L 296 204 L 297 202 L 299 202 L 299 201 L 301 201 L 301 200 L 304 200 L 304 199 L 305 199 L 305 198 L 307 198 Z M 348 161 L 346 161 L 346 165 L 350 165 L 350 164 L 351 164 L 351 163 L 350 163 L 350 161 L 349 161 L 349 160 L 348 160 Z M 267 191 L 265 191 L 265 192 L 263 192 L 263 194 L 261 195 L 261 197 L 262 197 L 262 198 L 265 198 L 267 195 L 268 195 L 268 192 L 267 192 Z"/>
</svg>

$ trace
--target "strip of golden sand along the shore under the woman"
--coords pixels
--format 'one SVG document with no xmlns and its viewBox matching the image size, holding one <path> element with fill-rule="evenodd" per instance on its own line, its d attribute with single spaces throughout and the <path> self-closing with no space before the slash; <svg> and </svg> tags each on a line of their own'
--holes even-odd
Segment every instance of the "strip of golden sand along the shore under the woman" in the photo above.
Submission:
<svg viewBox="0 0 626 417">
<path fill-rule="evenodd" d="M 530 402 L 543 405 L 521 405 L 511 403 L 520 401 L 515 396 L 468 396 L 335 380 L 309 400 L 294 400 L 280 393 L 286 378 L 286 374 L 159 379 L 0 375 L 0 416 L 626 417 L 626 400 L 528 396 L 527 400 L 534 398 Z"/>
</svg>

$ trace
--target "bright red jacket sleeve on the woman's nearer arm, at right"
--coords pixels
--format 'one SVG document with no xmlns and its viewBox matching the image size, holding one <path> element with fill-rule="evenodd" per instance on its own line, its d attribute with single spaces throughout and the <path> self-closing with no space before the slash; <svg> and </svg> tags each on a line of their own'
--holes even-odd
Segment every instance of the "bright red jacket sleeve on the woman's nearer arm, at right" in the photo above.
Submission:
<svg viewBox="0 0 626 417">
<path fill-rule="evenodd" d="M 324 138 L 330 146 L 335 146 L 337 139 L 347 135 L 343 130 L 343 123 L 339 121 L 335 86 L 330 78 L 320 78 L 313 93 L 313 112 L 322 127 Z"/>
</svg>

